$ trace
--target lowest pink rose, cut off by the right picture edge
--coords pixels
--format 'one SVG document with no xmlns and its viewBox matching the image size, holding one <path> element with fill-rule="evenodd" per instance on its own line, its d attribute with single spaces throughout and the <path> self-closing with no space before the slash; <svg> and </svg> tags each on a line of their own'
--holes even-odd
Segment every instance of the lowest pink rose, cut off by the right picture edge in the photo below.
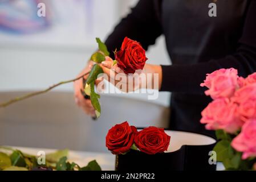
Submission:
<svg viewBox="0 0 256 182">
<path fill-rule="evenodd" d="M 243 152 L 242 159 L 256 156 L 256 119 L 251 119 L 243 125 L 241 133 L 233 139 L 231 146 Z"/>
</svg>

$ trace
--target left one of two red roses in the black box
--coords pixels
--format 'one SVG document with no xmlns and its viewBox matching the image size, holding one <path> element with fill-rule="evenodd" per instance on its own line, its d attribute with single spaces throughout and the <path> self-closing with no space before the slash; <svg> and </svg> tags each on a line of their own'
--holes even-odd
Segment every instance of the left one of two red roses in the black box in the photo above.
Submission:
<svg viewBox="0 0 256 182">
<path fill-rule="evenodd" d="M 129 126 L 127 121 L 115 125 L 108 131 L 106 147 L 112 154 L 124 154 L 130 150 L 136 132 L 136 127 Z"/>
</svg>

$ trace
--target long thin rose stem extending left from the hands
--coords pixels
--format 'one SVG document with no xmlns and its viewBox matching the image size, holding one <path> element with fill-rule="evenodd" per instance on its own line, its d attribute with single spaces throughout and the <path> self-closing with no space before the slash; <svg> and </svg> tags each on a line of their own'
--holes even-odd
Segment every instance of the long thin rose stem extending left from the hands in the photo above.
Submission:
<svg viewBox="0 0 256 182">
<path fill-rule="evenodd" d="M 59 85 L 68 84 L 68 83 L 70 83 L 70 82 L 74 82 L 74 81 L 76 81 L 76 80 L 79 80 L 79 79 L 83 78 L 84 76 L 88 75 L 89 73 L 90 73 L 90 72 L 84 73 L 84 75 L 79 76 L 79 77 L 77 77 L 77 78 L 75 78 L 75 79 L 72 79 L 72 80 L 61 81 L 61 82 L 59 82 L 58 84 L 54 84 L 54 85 L 50 86 L 49 88 L 47 88 L 47 89 L 45 89 L 45 90 L 41 90 L 41 91 L 38 91 L 38 92 L 32 92 L 32 93 L 26 94 L 26 95 L 21 96 L 21 97 L 13 98 L 13 99 L 11 99 L 11 100 L 9 100 L 9 101 L 7 101 L 7 102 L 3 102 L 2 104 L 0 104 L 0 107 L 7 107 L 7 106 L 9 106 L 9 105 L 11 105 L 11 104 L 13 104 L 13 103 L 15 103 L 15 102 L 22 101 L 22 100 L 25 100 L 25 99 L 27 99 L 27 98 L 37 96 L 37 95 L 39 95 L 39 94 L 46 93 L 46 92 L 48 92 L 48 91 L 54 89 L 55 87 L 57 87 L 57 86 L 59 86 Z"/>
</svg>

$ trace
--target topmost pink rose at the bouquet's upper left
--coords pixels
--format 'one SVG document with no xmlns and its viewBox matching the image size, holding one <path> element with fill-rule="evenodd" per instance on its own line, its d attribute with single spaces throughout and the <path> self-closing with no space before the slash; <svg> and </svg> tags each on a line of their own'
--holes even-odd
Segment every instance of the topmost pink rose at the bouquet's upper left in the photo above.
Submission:
<svg viewBox="0 0 256 182">
<path fill-rule="evenodd" d="M 206 96 L 213 99 L 231 97 L 235 90 L 239 88 L 237 69 L 220 69 L 206 76 L 204 83 L 200 86 L 206 86 L 209 90 L 205 91 Z"/>
</svg>

